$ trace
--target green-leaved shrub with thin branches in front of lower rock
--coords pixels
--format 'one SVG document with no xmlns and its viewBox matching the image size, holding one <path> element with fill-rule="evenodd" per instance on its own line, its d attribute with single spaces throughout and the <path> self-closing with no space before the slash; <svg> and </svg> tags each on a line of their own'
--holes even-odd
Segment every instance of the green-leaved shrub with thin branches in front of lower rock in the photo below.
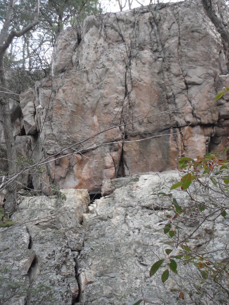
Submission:
<svg viewBox="0 0 229 305">
<path fill-rule="evenodd" d="M 189 280 L 191 287 L 184 284 L 171 291 L 179 292 L 180 299 L 186 297 L 195 304 L 204 304 L 206 299 L 227 303 L 228 254 L 226 245 L 215 246 L 214 230 L 217 224 L 226 226 L 229 166 L 228 157 L 223 156 L 228 149 L 222 155 L 209 153 L 196 159 L 181 158 L 179 166 L 186 173 L 171 186 L 168 194 L 160 193 L 168 199 L 163 206 L 168 212 L 160 224 L 172 247 L 165 249 L 165 257 L 152 265 L 150 277 L 162 269 L 161 281 L 165 283 L 170 275 L 182 273 L 181 265 L 188 265 L 195 270 L 191 284 Z M 178 198 L 177 189 L 185 192 L 188 200 Z M 193 246 L 195 238 L 199 239 L 198 247 Z"/>
</svg>

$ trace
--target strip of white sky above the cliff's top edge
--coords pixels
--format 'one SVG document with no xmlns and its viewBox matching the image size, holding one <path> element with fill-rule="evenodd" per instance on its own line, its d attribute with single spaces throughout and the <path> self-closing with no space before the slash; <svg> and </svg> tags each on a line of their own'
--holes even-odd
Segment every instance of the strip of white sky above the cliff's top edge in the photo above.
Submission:
<svg viewBox="0 0 229 305">
<path fill-rule="evenodd" d="M 138 1 L 138 3 L 137 3 Z M 133 0 L 131 9 L 137 8 L 140 6 L 139 3 L 141 3 L 142 5 L 148 5 L 150 3 L 150 0 Z M 182 0 L 160 0 L 160 3 L 167 3 L 167 2 L 178 2 L 178 1 L 182 1 Z M 116 13 L 119 12 L 119 4 L 118 4 L 118 0 L 101 0 L 102 5 L 105 8 L 106 12 L 112 12 L 112 13 Z M 153 0 L 152 3 L 157 3 L 157 0 Z M 122 0 L 122 3 L 125 4 L 125 0 Z M 126 2 L 126 7 L 123 9 L 123 11 L 128 10 L 128 0 Z"/>
</svg>

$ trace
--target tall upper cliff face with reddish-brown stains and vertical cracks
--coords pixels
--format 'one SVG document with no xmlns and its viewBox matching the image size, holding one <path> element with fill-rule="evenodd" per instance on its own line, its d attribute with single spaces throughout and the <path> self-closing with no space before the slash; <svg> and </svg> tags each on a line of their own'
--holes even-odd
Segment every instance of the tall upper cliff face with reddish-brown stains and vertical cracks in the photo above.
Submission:
<svg viewBox="0 0 229 305">
<path fill-rule="evenodd" d="M 229 83 L 228 14 L 205 3 L 90 16 L 81 37 L 61 33 L 52 78 L 21 95 L 15 127 L 19 154 L 36 146 L 32 158 L 51 161 L 45 182 L 96 193 L 105 178 L 225 146 L 228 97 L 215 96 Z"/>
</svg>

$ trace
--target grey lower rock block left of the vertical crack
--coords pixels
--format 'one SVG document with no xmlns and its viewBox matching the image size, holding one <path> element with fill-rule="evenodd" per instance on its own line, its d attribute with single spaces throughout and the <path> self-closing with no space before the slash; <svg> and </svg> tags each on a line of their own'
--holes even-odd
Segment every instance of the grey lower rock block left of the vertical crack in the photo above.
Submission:
<svg viewBox="0 0 229 305">
<path fill-rule="evenodd" d="M 5 299 L 10 293 L 14 296 L 4 304 L 19 305 L 27 300 L 26 304 L 33 305 L 71 305 L 76 301 L 80 289 L 77 256 L 84 236 L 80 223 L 90 198 L 86 190 L 63 193 L 66 201 L 56 196 L 21 197 L 13 215 L 17 226 L 0 232 L 1 276 L 5 275 L 4 283 L 20 283 L 15 295 L 12 287 L 0 287 L 1 301 L 4 294 Z"/>
</svg>

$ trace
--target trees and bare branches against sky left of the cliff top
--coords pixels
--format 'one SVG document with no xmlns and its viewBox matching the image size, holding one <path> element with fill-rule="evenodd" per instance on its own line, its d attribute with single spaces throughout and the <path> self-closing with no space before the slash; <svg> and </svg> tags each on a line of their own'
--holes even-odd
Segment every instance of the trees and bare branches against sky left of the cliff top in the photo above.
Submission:
<svg viewBox="0 0 229 305">
<path fill-rule="evenodd" d="M 9 6 L 9 0 L 0 0 L 1 28 Z M 36 0 L 16 1 L 9 31 L 19 31 L 27 26 L 35 8 Z M 35 33 L 26 33 L 13 40 L 4 55 L 7 87 L 14 93 L 11 98 L 19 100 L 18 95 L 28 87 L 50 76 L 51 53 L 63 28 L 73 26 L 80 36 L 83 19 L 100 13 L 102 9 L 98 0 L 40 0 L 39 24 Z"/>
</svg>

